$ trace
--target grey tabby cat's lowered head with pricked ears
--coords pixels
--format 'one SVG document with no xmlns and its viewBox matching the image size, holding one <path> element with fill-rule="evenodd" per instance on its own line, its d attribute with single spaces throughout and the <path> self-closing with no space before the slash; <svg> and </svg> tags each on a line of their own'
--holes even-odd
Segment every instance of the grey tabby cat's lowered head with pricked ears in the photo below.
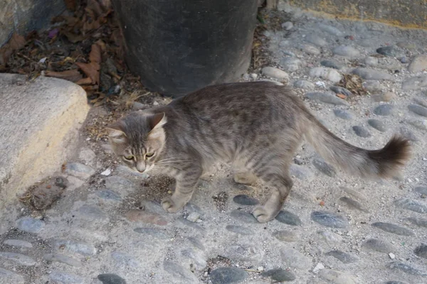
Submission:
<svg viewBox="0 0 427 284">
<path fill-rule="evenodd" d="M 130 169 L 147 172 L 164 148 L 166 123 L 164 113 L 131 113 L 107 127 L 112 150 Z"/>
</svg>

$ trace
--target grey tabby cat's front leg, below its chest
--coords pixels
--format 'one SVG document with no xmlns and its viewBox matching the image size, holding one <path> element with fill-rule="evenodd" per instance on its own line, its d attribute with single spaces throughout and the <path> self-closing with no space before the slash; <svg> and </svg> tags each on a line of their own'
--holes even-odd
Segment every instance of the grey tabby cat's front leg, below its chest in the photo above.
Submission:
<svg viewBox="0 0 427 284">
<path fill-rule="evenodd" d="M 162 207 L 167 212 L 175 213 L 191 200 L 196 183 L 202 174 L 201 168 L 190 166 L 176 175 L 175 192 L 172 196 L 164 197 Z"/>
</svg>

